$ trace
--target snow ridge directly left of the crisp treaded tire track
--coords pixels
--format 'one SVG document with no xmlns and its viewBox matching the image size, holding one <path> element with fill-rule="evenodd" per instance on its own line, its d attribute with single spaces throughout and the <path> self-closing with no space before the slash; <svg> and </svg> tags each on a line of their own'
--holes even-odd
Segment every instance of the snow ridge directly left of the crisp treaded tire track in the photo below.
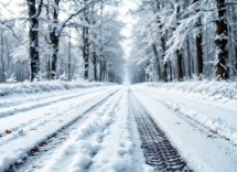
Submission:
<svg viewBox="0 0 237 172">
<path fill-rule="evenodd" d="M 110 126 L 110 135 L 104 138 L 101 149 L 95 155 L 89 172 L 133 171 L 133 143 L 128 105 L 128 89 L 126 89 L 117 108 L 116 121 Z"/>
</svg>

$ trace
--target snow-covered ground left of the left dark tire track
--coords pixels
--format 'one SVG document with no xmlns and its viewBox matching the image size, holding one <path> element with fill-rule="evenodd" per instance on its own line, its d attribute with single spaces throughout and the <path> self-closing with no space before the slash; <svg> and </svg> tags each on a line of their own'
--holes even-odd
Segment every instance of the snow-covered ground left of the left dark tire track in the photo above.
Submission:
<svg viewBox="0 0 237 172">
<path fill-rule="evenodd" d="M 17 106 L 11 105 L 11 107 L 1 108 L 4 112 L 0 115 L 2 117 L 0 118 L 0 131 L 4 133 L 6 130 L 11 130 L 12 133 L 0 137 L 0 171 L 20 160 L 34 146 L 37 146 L 119 87 L 72 90 L 63 95 L 43 94 L 34 100 L 28 96 L 25 100 L 18 97 L 14 99 Z M 6 116 L 8 111 L 12 114 Z M 19 133 L 20 130 L 23 130 L 22 135 Z"/>
</svg>

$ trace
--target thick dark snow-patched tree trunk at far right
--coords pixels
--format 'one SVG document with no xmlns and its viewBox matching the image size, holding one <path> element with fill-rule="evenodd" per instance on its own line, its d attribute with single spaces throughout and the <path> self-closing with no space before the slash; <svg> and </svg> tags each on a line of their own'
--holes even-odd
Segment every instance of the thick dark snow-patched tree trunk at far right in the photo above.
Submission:
<svg viewBox="0 0 237 172">
<path fill-rule="evenodd" d="M 226 0 L 216 0 L 216 79 L 227 79 L 228 74 L 228 26 L 226 19 Z"/>
</svg>

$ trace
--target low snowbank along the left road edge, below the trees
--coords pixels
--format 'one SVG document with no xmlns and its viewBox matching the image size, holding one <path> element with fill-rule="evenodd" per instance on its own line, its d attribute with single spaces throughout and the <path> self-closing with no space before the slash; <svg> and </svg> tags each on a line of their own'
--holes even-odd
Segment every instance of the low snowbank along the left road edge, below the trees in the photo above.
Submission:
<svg viewBox="0 0 237 172">
<path fill-rule="evenodd" d="M 43 92 L 52 90 L 64 90 L 64 89 L 74 89 L 74 88 L 88 88 L 88 87 L 98 87 L 116 85 L 114 83 L 87 83 L 87 82 L 24 82 L 17 84 L 0 84 L 0 96 L 8 96 L 13 94 L 36 94 Z"/>
</svg>

